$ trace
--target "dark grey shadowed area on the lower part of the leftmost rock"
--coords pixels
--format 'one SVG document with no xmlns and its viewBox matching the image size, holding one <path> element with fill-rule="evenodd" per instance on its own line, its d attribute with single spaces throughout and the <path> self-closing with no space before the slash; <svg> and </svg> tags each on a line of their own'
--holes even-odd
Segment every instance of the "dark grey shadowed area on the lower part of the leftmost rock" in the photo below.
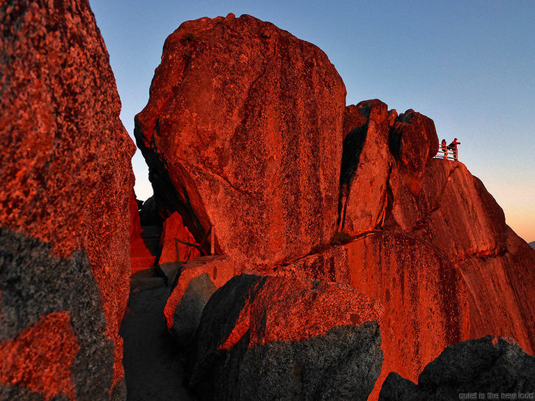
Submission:
<svg viewBox="0 0 535 401">
<path fill-rule="evenodd" d="M 68 311 L 80 347 L 71 368 L 77 400 L 108 399 L 114 345 L 106 336 L 91 265 L 84 251 L 71 258 L 56 258 L 50 251 L 45 242 L 0 227 L 0 342 L 35 326 L 44 315 Z M 16 400 L 26 393 L 3 386 L 1 394 Z"/>
</svg>

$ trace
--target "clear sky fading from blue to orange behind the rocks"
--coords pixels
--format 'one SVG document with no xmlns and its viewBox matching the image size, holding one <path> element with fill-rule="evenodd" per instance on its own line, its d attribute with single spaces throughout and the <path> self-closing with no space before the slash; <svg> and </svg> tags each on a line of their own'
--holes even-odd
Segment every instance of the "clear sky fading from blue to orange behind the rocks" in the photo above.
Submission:
<svg viewBox="0 0 535 401">
<path fill-rule="evenodd" d="M 89 0 L 133 137 L 164 40 L 189 19 L 249 14 L 323 49 L 347 104 L 378 98 L 435 121 L 506 221 L 535 241 L 535 0 Z M 152 194 L 139 151 L 136 194 Z"/>
</svg>

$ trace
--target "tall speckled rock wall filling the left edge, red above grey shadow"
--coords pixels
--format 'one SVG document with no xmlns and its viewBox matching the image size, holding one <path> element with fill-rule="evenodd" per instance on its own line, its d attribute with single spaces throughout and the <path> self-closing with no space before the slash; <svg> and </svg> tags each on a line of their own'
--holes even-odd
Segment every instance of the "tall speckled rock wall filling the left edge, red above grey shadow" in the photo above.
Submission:
<svg viewBox="0 0 535 401">
<path fill-rule="evenodd" d="M 124 399 L 134 146 L 87 1 L 0 6 L 0 398 Z"/>
</svg>

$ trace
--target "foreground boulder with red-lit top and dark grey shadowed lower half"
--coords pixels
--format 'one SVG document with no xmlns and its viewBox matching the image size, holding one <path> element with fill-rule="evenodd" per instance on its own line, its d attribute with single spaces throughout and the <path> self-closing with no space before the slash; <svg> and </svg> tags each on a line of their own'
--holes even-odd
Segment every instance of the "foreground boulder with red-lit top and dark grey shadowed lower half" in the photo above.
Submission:
<svg viewBox="0 0 535 401">
<path fill-rule="evenodd" d="M 241 274 L 203 311 L 190 385 L 201 399 L 366 400 L 381 313 L 348 285 Z"/>
</svg>

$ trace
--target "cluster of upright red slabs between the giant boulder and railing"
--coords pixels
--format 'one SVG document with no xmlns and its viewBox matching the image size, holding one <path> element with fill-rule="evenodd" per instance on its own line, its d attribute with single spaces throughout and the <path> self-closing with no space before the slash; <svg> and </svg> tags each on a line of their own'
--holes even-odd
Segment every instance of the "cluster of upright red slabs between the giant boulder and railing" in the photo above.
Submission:
<svg viewBox="0 0 535 401">
<path fill-rule="evenodd" d="M 346 107 L 343 127 L 339 230 L 357 236 L 384 226 L 387 212 L 398 211 L 387 210 L 392 201 L 403 217 L 412 210 L 438 137 L 431 118 L 413 110 L 396 117 L 376 99 Z M 396 223 L 406 228 L 412 221 Z"/>
</svg>

